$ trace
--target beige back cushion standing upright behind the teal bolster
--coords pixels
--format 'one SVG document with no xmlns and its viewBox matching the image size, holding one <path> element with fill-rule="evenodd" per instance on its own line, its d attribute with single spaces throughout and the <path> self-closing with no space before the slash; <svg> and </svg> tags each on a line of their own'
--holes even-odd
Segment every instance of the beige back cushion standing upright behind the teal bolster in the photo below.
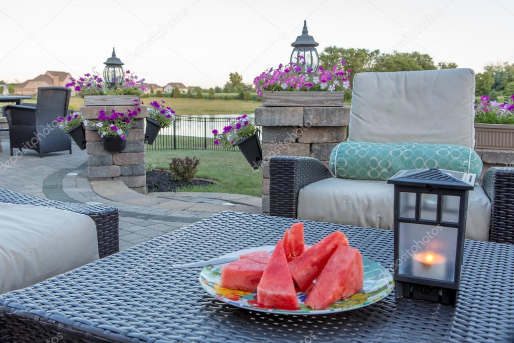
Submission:
<svg viewBox="0 0 514 343">
<path fill-rule="evenodd" d="M 355 75 L 348 140 L 474 149 L 472 69 Z"/>
</svg>

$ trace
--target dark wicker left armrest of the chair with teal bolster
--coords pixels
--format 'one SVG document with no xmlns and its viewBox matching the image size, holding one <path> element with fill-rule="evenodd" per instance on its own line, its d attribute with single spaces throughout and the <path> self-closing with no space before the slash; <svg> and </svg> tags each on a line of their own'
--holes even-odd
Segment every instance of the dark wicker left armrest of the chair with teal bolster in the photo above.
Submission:
<svg viewBox="0 0 514 343">
<path fill-rule="evenodd" d="M 332 177 L 332 173 L 312 157 L 273 156 L 269 177 L 269 214 L 296 218 L 300 189 Z"/>
</svg>

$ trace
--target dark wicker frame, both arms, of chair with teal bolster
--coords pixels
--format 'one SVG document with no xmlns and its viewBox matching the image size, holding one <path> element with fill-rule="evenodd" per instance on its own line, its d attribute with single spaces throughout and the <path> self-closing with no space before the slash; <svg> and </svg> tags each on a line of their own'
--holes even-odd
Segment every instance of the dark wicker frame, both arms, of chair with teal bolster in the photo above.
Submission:
<svg viewBox="0 0 514 343">
<path fill-rule="evenodd" d="M 273 156 L 269 176 L 269 214 L 297 218 L 300 189 L 332 172 L 315 158 Z M 491 201 L 489 240 L 514 244 L 514 168 L 489 168 L 482 186 Z"/>
</svg>

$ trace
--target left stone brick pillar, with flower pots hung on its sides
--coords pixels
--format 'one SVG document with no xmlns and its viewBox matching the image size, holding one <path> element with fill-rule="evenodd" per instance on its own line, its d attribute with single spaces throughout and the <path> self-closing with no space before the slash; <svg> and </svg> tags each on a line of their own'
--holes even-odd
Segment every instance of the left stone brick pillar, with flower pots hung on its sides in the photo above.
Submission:
<svg viewBox="0 0 514 343">
<path fill-rule="evenodd" d="M 144 163 L 144 118 L 146 107 L 140 106 L 141 112 L 133 117 L 132 129 L 126 136 L 126 148 L 120 153 L 109 152 L 103 148 L 102 138 L 93 125 L 86 127 L 87 176 L 90 180 L 120 179 L 136 192 L 146 192 L 146 168 Z M 83 106 L 80 111 L 88 120 L 97 119 L 98 111 L 109 114 L 127 113 L 136 106 Z"/>
</svg>

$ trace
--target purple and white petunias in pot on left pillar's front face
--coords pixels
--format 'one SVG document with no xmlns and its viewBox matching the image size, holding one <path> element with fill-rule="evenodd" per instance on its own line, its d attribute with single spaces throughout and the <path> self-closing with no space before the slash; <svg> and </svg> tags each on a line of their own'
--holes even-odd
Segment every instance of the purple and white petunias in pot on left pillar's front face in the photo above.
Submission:
<svg viewBox="0 0 514 343">
<path fill-rule="evenodd" d="M 93 121 L 95 127 L 98 128 L 98 133 L 101 137 L 105 136 L 119 136 L 124 140 L 128 131 L 132 128 L 132 121 L 141 112 L 139 101 L 135 101 L 138 107 L 135 110 L 128 109 L 126 113 L 116 112 L 112 110 L 111 113 L 106 113 L 105 110 L 98 112 L 98 120 Z"/>
</svg>

